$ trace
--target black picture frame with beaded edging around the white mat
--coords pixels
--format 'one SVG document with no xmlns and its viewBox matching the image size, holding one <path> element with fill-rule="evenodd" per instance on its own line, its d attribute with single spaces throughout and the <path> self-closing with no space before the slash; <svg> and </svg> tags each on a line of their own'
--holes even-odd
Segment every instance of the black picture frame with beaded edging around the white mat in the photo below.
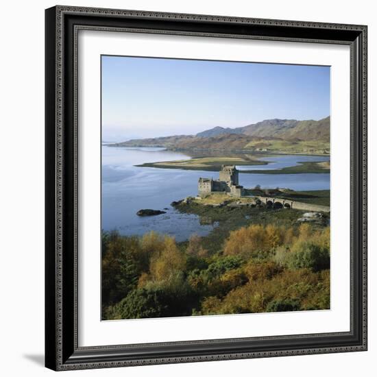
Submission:
<svg viewBox="0 0 377 377">
<path fill-rule="evenodd" d="M 367 350 L 367 27 L 69 6 L 47 9 L 45 26 L 46 367 L 86 369 Z M 78 347 L 75 93 L 79 29 L 350 46 L 350 332 Z"/>
</svg>

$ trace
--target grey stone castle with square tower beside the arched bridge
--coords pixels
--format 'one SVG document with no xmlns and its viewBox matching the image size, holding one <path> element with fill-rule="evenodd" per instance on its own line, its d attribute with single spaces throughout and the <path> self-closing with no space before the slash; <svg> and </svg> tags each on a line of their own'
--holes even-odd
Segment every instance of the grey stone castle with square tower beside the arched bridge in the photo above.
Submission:
<svg viewBox="0 0 377 377">
<path fill-rule="evenodd" d="M 243 194 L 243 186 L 239 186 L 239 171 L 235 165 L 222 165 L 219 180 L 199 178 L 197 189 L 199 196 L 215 192 L 229 193 L 234 197 L 241 197 Z"/>
</svg>

